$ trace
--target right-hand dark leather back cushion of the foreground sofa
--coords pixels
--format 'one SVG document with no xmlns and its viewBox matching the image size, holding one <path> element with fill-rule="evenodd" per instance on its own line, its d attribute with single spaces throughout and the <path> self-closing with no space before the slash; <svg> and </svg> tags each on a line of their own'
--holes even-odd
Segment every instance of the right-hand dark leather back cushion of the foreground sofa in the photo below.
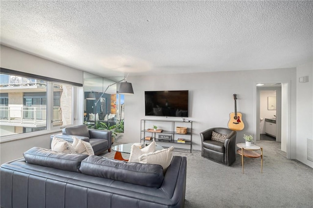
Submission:
<svg viewBox="0 0 313 208">
<path fill-rule="evenodd" d="M 91 155 L 82 161 L 81 173 L 124 181 L 145 187 L 161 187 L 163 183 L 163 168 L 160 165 L 127 163 L 100 156 Z"/>
</svg>

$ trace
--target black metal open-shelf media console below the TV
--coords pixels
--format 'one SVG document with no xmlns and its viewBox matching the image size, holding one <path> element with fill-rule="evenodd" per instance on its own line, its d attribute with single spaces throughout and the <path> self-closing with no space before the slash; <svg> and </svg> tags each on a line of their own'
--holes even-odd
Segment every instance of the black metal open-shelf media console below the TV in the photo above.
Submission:
<svg viewBox="0 0 313 208">
<path fill-rule="evenodd" d="M 153 126 L 157 126 L 157 131 L 153 130 Z M 176 132 L 176 127 L 186 127 L 186 134 Z M 141 139 L 140 142 L 145 144 L 156 140 L 160 146 L 174 146 L 175 149 L 192 150 L 192 121 L 187 119 L 179 120 L 155 120 L 141 119 Z M 151 140 L 148 140 L 148 139 Z M 178 142 L 181 140 L 181 142 Z M 187 147 L 187 148 L 186 148 Z"/>
</svg>

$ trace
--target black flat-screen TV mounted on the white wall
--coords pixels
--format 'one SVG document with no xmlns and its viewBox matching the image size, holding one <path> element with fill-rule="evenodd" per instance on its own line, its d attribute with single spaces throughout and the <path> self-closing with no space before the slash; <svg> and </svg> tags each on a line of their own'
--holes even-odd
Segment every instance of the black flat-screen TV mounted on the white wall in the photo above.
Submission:
<svg viewBox="0 0 313 208">
<path fill-rule="evenodd" d="M 188 90 L 145 91 L 145 115 L 188 117 Z"/>
</svg>

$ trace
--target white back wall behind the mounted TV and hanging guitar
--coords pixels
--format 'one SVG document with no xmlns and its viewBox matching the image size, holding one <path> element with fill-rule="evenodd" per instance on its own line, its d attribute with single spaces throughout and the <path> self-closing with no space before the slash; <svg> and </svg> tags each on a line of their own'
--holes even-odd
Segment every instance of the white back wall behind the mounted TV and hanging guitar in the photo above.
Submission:
<svg viewBox="0 0 313 208">
<path fill-rule="evenodd" d="M 166 119 L 144 115 L 144 91 L 189 90 L 189 119 L 194 122 L 194 149 L 201 149 L 201 131 L 210 127 L 227 127 L 229 113 L 234 111 L 233 94 L 237 94 L 237 110 L 243 114 L 245 123 L 245 129 L 237 133 L 237 143 L 244 142 L 243 134 L 255 136 L 254 82 L 291 82 L 291 117 L 295 120 L 295 77 L 295 68 L 129 77 L 134 95 L 125 96 L 125 133 L 122 141 L 139 142 L 140 119 Z M 291 139 L 295 140 L 295 121 L 292 124 Z M 291 155 L 295 157 L 296 146 L 292 148 Z"/>
</svg>

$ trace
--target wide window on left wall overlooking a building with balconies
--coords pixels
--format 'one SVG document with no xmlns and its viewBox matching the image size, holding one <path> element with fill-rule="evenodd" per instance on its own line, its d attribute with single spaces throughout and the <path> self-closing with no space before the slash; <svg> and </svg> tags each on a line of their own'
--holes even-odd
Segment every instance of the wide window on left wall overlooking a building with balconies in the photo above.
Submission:
<svg viewBox="0 0 313 208">
<path fill-rule="evenodd" d="M 0 74 L 0 141 L 3 136 L 73 125 L 75 86 L 35 78 Z"/>
</svg>

